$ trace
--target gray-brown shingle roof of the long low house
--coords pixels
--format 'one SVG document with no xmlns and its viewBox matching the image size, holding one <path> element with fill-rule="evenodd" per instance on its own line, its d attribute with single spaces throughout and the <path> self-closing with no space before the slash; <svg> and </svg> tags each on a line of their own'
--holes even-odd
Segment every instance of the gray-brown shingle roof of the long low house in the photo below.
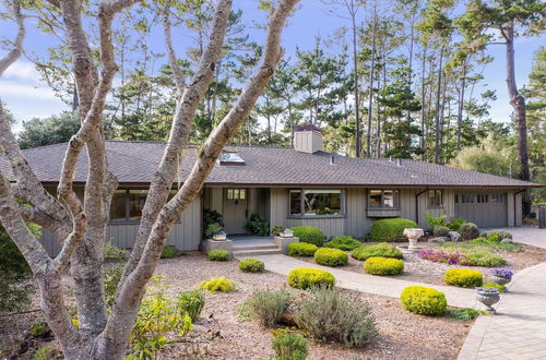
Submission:
<svg viewBox="0 0 546 360">
<path fill-rule="evenodd" d="M 120 183 L 149 183 L 162 158 L 165 143 L 107 141 L 111 171 Z M 67 144 L 24 151 L 25 157 L 43 182 L 59 180 Z M 400 187 L 507 187 L 527 188 L 539 184 L 492 175 L 460 170 L 424 161 L 384 158 L 352 158 L 325 152 L 300 153 L 287 147 L 227 146 L 237 152 L 245 166 L 216 165 L 207 184 L 246 185 L 400 185 Z M 181 180 L 190 172 L 195 148 L 189 148 L 180 167 Z M 334 165 L 331 165 L 331 157 Z M 7 160 L 0 156 L 0 170 L 11 178 Z M 87 156 L 80 155 L 75 179 L 84 182 Z"/>
</svg>

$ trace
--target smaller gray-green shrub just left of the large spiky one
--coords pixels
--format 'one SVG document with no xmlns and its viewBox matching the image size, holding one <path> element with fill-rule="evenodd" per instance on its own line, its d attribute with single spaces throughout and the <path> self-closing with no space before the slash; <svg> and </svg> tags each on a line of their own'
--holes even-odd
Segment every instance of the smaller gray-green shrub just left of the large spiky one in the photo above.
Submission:
<svg viewBox="0 0 546 360">
<path fill-rule="evenodd" d="M 270 327 L 281 322 L 290 299 L 292 295 L 285 289 L 258 291 L 245 301 L 239 312 L 244 317 L 257 320 L 262 326 Z"/>
</svg>

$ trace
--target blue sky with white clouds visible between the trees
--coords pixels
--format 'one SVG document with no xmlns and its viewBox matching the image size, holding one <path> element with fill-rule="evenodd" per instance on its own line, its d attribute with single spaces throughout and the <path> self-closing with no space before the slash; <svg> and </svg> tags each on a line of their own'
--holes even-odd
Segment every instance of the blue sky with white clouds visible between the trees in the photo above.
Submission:
<svg viewBox="0 0 546 360">
<path fill-rule="evenodd" d="M 260 41 L 264 37 L 263 29 L 254 26 L 256 23 L 263 23 L 264 14 L 257 9 L 256 0 L 235 1 L 235 8 L 244 11 L 244 22 L 250 37 Z M 314 37 L 331 35 L 341 26 L 347 26 L 348 20 L 334 17 L 325 11 L 325 5 L 319 0 L 302 0 L 299 9 L 289 19 L 287 28 L 283 35 L 283 47 L 285 56 L 294 53 L 296 47 L 309 49 L 314 46 Z M 366 9 L 360 9 L 357 14 L 358 21 L 364 21 L 368 15 Z M 47 47 L 55 44 L 57 39 L 51 35 L 44 35 L 36 29 L 37 20 L 28 19 L 28 34 L 24 43 L 25 51 L 44 55 Z M 119 25 L 118 25 L 119 26 Z M 0 36 L 13 37 L 15 27 L 13 23 L 0 22 Z M 191 44 L 192 39 L 181 29 L 174 29 L 174 41 L 177 52 L 183 50 Z M 152 33 L 149 41 L 151 48 L 156 52 L 164 51 L 164 41 L 161 32 Z M 521 88 L 527 81 L 531 71 L 533 53 L 539 46 L 546 45 L 546 35 L 542 37 L 519 38 L 515 44 L 515 77 Z M 475 88 L 475 94 L 486 89 L 494 89 L 497 93 L 497 100 L 491 104 L 490 116 L 494 121 L 508 122 L 512 109 L 508 101 L 506 86 L 506 47 L 492 45 L 488 48 L 488 53 L 494 57 L 494 61 L 484 71 L 484 81 Z M 0 50 L 0 56 L 2 56 Z M 16 130 L 21 129 L 21 121 L 33 117 L 47 117 L 69 109 L 68 106 L 55 96 L 55 93 L 40 81 L 39 74 L 34 69 L 34 64 L 25 59 L 20 59 L 0 79 L 0 98 L 17 120 Z"/>
</svg>

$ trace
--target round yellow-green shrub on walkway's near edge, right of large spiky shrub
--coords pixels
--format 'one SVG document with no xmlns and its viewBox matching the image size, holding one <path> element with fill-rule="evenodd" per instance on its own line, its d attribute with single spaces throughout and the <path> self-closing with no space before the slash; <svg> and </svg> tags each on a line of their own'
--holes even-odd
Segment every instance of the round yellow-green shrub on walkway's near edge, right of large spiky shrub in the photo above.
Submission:
<svg viewBox="0 0 546 360">
<path fill-rule="evenodd" d="M 418 285 L 406 287 L 400 302 L 405 310 L 419 315 L 443 315 L 448 307 L 443 292 Z"/>
</svg>

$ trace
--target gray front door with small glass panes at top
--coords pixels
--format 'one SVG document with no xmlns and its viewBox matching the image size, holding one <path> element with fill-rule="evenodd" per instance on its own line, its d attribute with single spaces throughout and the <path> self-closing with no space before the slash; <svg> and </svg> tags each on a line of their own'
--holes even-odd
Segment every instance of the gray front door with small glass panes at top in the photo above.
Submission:
<svg viewBox="0 0 546 360">
<path fill-rule="evenodd" d="M 228 235 L 247 232 L 247 189 L 224 189 L 224 231 Z"/>
</svg>

